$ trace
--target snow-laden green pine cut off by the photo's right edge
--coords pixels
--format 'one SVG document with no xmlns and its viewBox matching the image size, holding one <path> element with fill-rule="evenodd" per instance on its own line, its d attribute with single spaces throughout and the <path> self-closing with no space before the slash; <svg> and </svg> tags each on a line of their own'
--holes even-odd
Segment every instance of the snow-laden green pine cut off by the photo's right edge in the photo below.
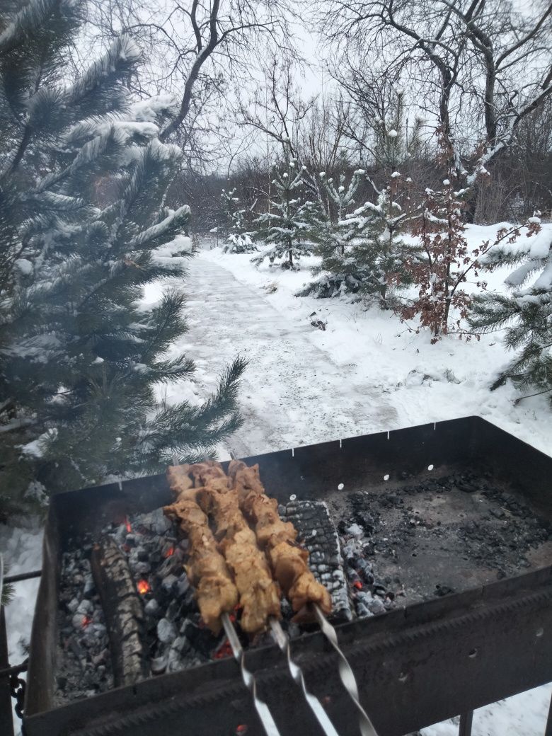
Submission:
<svg viewBox="0 0 552 736">
<path fill-rule="evenodd" d="M 539 222 L 537 216 L 529 220 L 528 238 L 539 232 Z M 519 232 L 519 228 L 512 228 L 499 233 L 500 241 L 506 241 L 506 245 L 489 250 L 484 263 L 489 270 L 518 266 L 506 279 L 510 294 L 489 292 L 475 297 L 469 322 L 476 333 L 506 330 L 503 344 L 508 350 L 517 351 L 492 389 L 511 378 L 522 391 L 536 389 L 537 394 L 551 394 L 552 234 L 550 229 L 543 229 L 534 241 L 526 238 L 512 247 Z"/>
</svg>

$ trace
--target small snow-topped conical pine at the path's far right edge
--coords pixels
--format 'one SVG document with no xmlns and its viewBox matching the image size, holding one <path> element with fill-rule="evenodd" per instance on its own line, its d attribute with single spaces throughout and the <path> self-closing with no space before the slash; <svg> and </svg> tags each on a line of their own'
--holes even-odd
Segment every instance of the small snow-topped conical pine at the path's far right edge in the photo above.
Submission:
<svg viewBox="0 0 552 736">
<path fill-rule="evenodd" d="M 303 255 L 310 255 L 313 243 L 308 235 L 317 216 L 317 207 L 309 200 L 302 201 L 301 188 L 303 182 L 302 167 L 297 171 L 294 160 L 289 161 L 287 171 L 277 173 L 272 184 L 275 185 L 277 199 L 271 200 L 271 210 L 259 216 L 255 222 L 261 225 L 261 233 L 265 233 L 266 243 L 272 248 L 263 251 L 252 263 L 262 263 L 266 258 L 274 263 L 283 258 L 283 268 L 297 269 L 297 263 Z"/>
</svg>

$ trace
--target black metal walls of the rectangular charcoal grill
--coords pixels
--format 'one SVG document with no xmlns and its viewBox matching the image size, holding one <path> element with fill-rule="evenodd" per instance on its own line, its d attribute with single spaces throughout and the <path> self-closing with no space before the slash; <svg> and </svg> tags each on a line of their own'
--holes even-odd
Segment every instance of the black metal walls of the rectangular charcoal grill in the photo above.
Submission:
<svg viewBox="0 0 552 736">
<path fill-rule="evenodd" d="M 258 462 L 266 492 L 285 501 L 397 487 L 403 473 L 475 470 L 490 473 L 552 520 L 552 458 L 479 417 L 358 436 L 246 459 Z M 433 469 L 428 470 L 429 466 Z M 58 495 L 52 499 L 43 548 L 29 657 L 26 736 L 230 736 L 261 723 L 233 659 L 146 679 L 82 701 L 54 707 L 56 615 L 60 556 L 68 540 L 98 531 L 116 517 L 148 512 L 170 500 L 163 475 Z M 406 606 L 336 627 L 355 671 L 361 702 L 380 736 L 402 736 L 461 715 L 470 734 L 475 708 L 552 681 L 552 560 L 530 573 Z M 0 636 L 0 669 L 2 668 Z M 294 660 L 308 689 L 344 736 L 358 721 L 337 672 L 336 655 L 319 631 L 295 640 Z M 276 645 L 247 654 L 258 693 L 282 734 L 319 733 L 289 678 Z M 8 698 L 0 679 L 1 707 Z M 6 718 L 4 716 L 4 722 Z M 8 731 L 9 733 L 9 731 Z M 552 734 L 548 719 L 546 736 Z"/>
</svg>

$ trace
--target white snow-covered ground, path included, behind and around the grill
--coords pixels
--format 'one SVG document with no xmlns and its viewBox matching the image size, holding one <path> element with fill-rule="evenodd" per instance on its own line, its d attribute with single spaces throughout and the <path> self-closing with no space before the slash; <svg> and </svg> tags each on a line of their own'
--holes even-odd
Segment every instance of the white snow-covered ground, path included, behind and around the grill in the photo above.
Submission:
<svg viewBox="0 0 552 736">
<path fill-rule="evenodd" d="M 470 227 L 475 246 L 498 226 Z M 545 226 L 551 231 L 552 226 Z M 513 386 L 488 386 L 509 356 L 500 334 L 481 342 L 448 337 L 431 345 L 428 333 L 409 333 L 389 312 L 345 300 L 295 297 L 311 279 L 314 258 L 299 272 L 267 263 L 256 269 L 250 255 L 225 255 L 205 244 L 189 263 L 188 333 L 171 353 L 197 363 L 194 382 L 160 390 L 160 397 L 198 402 L 216 387 L 217 375 L 236 355 L 249 365 L 239 403 L 244 425 L 221 456 L 281 450 L 408 425 L 478 414 L 552 454 L 552 414 L 544 397 L 514 406 Z M 503 289 L 508 271 L 489 276 Z M 145 302 L 158 300 L 162 283 L 147 287 Z M 325 323 L 321 330 L 311 322 Z M 0 551 L 10 572 L 34 569 L 40 533 L 0 527 Z M 7 609 L 10 657 L 24 657 L 37 583 L 18 584 Z M 552 684 L 475 712 L 474 736 L 542 736 Z M 458 733 L 453 721 L 424 729 L 424 736 Z"/>
</svg>

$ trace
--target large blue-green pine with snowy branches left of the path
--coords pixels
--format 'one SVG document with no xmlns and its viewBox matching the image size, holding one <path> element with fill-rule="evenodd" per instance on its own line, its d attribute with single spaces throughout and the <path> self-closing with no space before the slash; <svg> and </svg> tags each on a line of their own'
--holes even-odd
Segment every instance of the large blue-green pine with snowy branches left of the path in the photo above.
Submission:
<svg viewBox="0 0 552 736">
<path fill-rule="evenodd" d="M 20 7 L 20 6 L 18 6 Z M 236 361 L 203 406 L 162 406 L 156 387 L 190 378 L 166 351 L 184 297 L 141 304 L 144 285 L 183 276 L 171 258 L 189 209 L 162 207 L 180 166 L 122 83 L 138 52 L 118 38 L 79 79 L 64 60 L 82 7 L 29 0 L 0 15 L 0 487 L 29 494 L 161 470 L 238 425 Z M 151 102 L 155 116 L 171 114 Z M 152 113 L 153 114 L 153 113 Z"/>
</svg>

